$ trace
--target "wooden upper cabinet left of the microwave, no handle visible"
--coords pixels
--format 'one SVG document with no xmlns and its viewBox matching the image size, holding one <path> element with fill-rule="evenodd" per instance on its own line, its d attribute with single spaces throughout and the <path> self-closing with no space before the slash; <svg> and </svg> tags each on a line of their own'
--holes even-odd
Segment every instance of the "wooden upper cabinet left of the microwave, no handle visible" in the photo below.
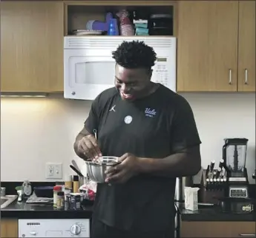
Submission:
<svg viewBox="0 0 256 238">
<path fill-rule="evenodd" d="M 1 2 L 1 92 L 63 91 L 63 3 Z"/>
</svg>

